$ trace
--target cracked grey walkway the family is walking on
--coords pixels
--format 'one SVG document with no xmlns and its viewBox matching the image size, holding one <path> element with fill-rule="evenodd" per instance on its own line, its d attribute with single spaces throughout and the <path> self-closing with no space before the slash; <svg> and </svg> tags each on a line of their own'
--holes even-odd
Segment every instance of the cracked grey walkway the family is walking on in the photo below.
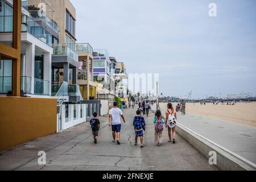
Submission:
<svg viewBox="0 0 256 182">
<path fill-rule="evenodd" d="M 120 146 L 112 142 L 108 117 L 102 117 L 98 144 L 93 143 L 89 123 L 82 123 L 1 152 L 0 170 L 217 170 L 179 136 L 176 144 L 168 142 L 166 130 L 163 146 L 156 146 L 152 114 L 146 118 L 144 148 L 134 146 L 135 110 L 123 113 L 127 122 Z M 46 165 L 38 164 L 38 151 L 46 151 Z"/>
</svg>

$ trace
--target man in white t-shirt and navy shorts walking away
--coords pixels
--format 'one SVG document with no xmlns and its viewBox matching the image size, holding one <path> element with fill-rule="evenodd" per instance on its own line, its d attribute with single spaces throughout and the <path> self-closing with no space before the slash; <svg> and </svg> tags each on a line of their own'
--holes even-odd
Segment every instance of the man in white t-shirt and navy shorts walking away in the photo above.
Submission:
<svg viewBox="0 0 256 182">
<path fill-rule="evenodd" d="M 122 117 L 124 123 L 125 123 L 125 117 L 123 116 L 122 110 L 117 107 L 118 103 L 114 102 L 113 105 L 114 107 L 109 110 L 109 126 L 112 126 L 113 142 L 115 142 L 115 138 L 116 138 L 117 144 L 120 144 L 119 142 L 120 131 L 121 131 L 120 116 Z"/>
</svg>

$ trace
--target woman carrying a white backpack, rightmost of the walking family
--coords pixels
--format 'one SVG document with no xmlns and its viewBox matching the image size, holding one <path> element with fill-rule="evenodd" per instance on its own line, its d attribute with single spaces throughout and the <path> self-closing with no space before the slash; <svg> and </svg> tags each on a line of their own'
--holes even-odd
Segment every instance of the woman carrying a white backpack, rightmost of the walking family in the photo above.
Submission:
<svg viewBox="0 0 256 182">
<path fill-rule="evenodd" d="M 176 120 L 177 120 L 177 113 L 172 107 L 171 103 L 167 104 L 167 111 L 166 111 L 166 127 L 168 127 L 168 136 L 169 142 L 175 143 L 175 134 L 176 134 Z M 172 131 L 172 138 L 171 139 L 171 131 Z"/>
</svg>

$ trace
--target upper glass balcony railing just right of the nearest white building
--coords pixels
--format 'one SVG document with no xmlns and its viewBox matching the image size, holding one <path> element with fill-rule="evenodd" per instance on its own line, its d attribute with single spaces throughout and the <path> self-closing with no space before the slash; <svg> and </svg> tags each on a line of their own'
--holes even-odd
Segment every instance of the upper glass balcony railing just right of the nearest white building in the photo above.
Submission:
<svg viewBox="0 0 256 182">
<path fill-rule="evenodd" d="M 54 44 L 52 48 L 53 56 L 69 56 L 71 59 L 79 61 L 79 55 L 68 44 Z"/>
</svg>

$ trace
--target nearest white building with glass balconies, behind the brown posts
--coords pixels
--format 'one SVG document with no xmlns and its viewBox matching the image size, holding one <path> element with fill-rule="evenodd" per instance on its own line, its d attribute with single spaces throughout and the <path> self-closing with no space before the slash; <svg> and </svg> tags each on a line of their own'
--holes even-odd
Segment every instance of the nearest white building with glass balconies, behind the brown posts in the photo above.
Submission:
<svg viewBox="0 0 256 182">
<path fill-rule="evenodd" d="M 1 1 L 0 41 L 8 46 L 13 43 L 13 3 Z M 33 12 L 33 13 L 32 13 Z M 29 97 L 51 96 L 52 43 L 59 39 L 56 22 L 31 12 L 27 1 L 22 3 L 20 84 L 22 93 Z M 47 17 L 47 18 L 46 18 Z M 0 94 L 12 92 L 12 61 L 1 60 Z"/>
</svg>

